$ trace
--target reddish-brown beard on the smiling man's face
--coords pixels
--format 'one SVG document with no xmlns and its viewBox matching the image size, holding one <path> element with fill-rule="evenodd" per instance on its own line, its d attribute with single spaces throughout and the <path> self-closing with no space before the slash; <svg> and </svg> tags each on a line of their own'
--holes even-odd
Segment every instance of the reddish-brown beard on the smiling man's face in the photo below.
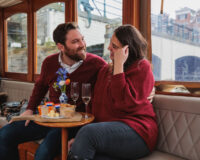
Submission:
<svg viewBox="0 0 200 160">
<path fill-rule="evenodd" d="M 78 52 L 80 50 L 86 50 L 85 47 L 79 47 L 77 48 L 76 50 L 75 49 L 70 49 L 68 48 L 67 46 L 65 46 L 65 51 L 64 51 L 64 54 L 66 56 L 68 56 L 70 59 L 78 62 L 80 60 L 84 60 L 86 58 L 85 54 L 78 54 Z"/>
</svg>

